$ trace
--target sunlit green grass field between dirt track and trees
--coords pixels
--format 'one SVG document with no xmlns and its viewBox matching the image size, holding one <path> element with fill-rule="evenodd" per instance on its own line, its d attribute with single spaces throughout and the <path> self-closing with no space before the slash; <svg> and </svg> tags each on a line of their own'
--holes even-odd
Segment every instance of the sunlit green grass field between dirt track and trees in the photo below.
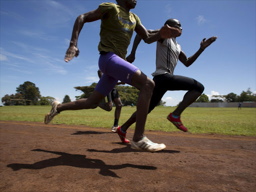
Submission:
<svg viewBox="0 0 256 192">
<path fill-rule="evenodd" d="M 0 120 L 43 122 L 44 115 L 51 106 L 2 106 Z M 97 107 L 96 109 L 63 111 L 54 117 L 53 124 L 79 124 L 91 127 L 110 128 L 113 125 L 114 109 L 110 112 Z M 158 106 L 148 114 L 146 130 L 179 131 L 166 116 L 175 107 Z M 124 123 L 136 107 L 123 106 L 119 124 Z M 256 135 L 256 108 L 236 107 L 188 107 L 182 113 L 181 120 L 191 133 L 215 133 L 223 135 Z M 134 124 L 131 126 L 134 129 Z"/>
</svg>

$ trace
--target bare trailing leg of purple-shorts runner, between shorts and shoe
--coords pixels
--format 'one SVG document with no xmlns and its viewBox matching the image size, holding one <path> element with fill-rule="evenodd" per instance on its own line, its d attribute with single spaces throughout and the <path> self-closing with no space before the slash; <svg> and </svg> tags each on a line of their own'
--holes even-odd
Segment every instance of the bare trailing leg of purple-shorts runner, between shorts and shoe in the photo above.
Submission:
<svg viewBox="0 0 256 192">
<path fill-rule="evenodd" d="M 58 104 L 56 110 L 61 112 L 63 110 L 80 110 L 88 108 L 96 108 L 98 103 L 104 98 L 100 92 L 93 90 L 88 98 L 81 98 L 72 102 Z"/>
</svg>

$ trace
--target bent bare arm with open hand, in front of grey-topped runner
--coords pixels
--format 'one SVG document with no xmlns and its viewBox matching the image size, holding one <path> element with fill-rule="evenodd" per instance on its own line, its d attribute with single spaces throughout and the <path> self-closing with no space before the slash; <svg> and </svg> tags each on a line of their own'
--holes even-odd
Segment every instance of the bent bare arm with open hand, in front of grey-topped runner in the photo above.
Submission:
<svg viewBox="0 0 256 192">
<path fill-rule="evenodd" d="M 178 59 L 185 65 L 185 66 L 190 66 L 195 60 L 196 58 L 202 53 L 202 51 L 209 46 L 212 42 L 214 42 L 217 39 L 216 36 L 212 36 L 210 38 L 208 38 L 207 40 L 202 39 L 201 43 L 200 43 L 200 48 L 190 57 L 186 57 L 185 53 L 180 50 Z"/>
</svg>

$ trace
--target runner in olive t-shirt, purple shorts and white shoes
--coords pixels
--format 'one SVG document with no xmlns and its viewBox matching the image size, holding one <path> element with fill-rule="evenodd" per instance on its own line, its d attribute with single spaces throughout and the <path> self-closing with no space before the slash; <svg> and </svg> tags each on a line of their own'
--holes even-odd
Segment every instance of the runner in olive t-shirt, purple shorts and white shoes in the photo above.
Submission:
<svg viewBox="0 0 256 192">
<path fill-rule="evenodd" d="M 139 18 L 129 11 L 135 7 L 136 0 L 116 0 L 116 2 L 117 4 L 101 3 L 97 9 L 81 14 L 76 18 L 70 44 L 65 55 L 66 62 L 74 56 L 78 56 L 77 39 L 83 24 L 101 19 L 98 66 L 103 75 L 99 79 L 97 86 L 88 98 L 81 98 L 63 104 L 59 101 L 54 101 L 50 112 L 45 115 L 44 123 L 48 123 L 63 110 L 96 108 L 98 103 L 120 80 L 139 89 L 136 104 L 137 122 L 131 141 L 131 148 L 150 152 L 161 150 L 166 147 L 164 144 L 153 143 L 144 135 L 144 126 L 154 82 L 136 66 L 127 62 L 125 55 L 134 30 L 146 43 L 152 43 L 161 38 L 178 36 L 181 32 L 177 28 L 164 25 L 159 32 L 149 35 L 145 27 L 140 23 Z M 128 142 L 125 138 L 126 132 L 121 131 L 120 127 L 117 128 L 117 133 L 122 142 Z"/>
</svg>

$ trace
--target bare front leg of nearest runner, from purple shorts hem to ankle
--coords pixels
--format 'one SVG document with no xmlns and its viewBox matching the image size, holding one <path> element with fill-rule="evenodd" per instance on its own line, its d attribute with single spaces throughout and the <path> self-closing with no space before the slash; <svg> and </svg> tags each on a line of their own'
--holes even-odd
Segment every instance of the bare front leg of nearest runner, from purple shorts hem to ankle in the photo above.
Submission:
<svg viewBox="0 0 256 192">
<path fill-rule="evenodd" d="M 132 76 L 131 85 L 139 89 L 136 105 L 136 126 L 133 135 L 133 141 L 137 142 L 144 136 L 145 121 L 154 82 L 140 70 L 137 70 Z"/>
</svg>

